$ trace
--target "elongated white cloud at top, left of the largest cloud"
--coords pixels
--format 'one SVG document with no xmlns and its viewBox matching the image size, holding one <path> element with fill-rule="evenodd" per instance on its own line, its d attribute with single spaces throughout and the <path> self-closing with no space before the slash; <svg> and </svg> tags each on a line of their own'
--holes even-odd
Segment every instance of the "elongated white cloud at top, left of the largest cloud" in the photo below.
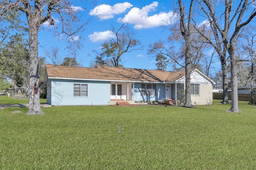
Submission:
<svg viewBox="0 0 256 170">
<path fill-rule="evenodd" d="M 90 10 L 90 15 L 98 16 L 100 20 L 107 20 L 114 18 L 114 14 L 121 14 L 128 8 L 131 8 L 132 4 L 128 2 L 118 3 L 114 6 L 101 4 L 96 6 L 93 10 Z"/>
</svg>

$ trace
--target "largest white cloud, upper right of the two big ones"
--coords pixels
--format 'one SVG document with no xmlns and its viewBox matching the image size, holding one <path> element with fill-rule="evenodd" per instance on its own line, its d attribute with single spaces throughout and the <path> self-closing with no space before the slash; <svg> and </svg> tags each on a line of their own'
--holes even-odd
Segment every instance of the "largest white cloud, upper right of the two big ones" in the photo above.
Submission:
<svg viewBox="0 0 256 170">
<path fill-rule="evenodd" d="M 153 16 L 148 16 L 148 12 L 156 10 L 158 2 L 153 2 L 150 5 L 140 8 L 132 8 L 124 18 L 118 18 L 119 22 L 128 22 L 129 24 L 135 24 L 134 28 L 152 28 L 157 26 L 166 26 L 176 22 L 177 17 L 174 12 L 170 11 L 160 12 Z"/>
</svg>

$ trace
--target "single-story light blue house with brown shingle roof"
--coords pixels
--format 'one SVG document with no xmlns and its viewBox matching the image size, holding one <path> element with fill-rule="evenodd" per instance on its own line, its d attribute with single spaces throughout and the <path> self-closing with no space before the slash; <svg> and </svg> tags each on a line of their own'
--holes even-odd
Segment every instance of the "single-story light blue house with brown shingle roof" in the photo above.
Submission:
<svg viewBox="0 0 256 170">
<path fill-rule="evenodd" d="M 185 71 L 46 65 L 44 81 L 49 105 L 115 105 L 120 100 L 134 104 L 179 100 Z M 214 81 L 195 69 L 190 82 L 192 104 L 211 105 Z"/>
</svg>

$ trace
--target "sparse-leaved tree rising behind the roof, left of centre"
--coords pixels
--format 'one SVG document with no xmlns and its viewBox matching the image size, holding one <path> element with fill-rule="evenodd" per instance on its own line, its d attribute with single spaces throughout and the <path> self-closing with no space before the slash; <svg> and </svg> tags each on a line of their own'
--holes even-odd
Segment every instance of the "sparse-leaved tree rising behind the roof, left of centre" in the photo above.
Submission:
<svg viewBox="0 0 256 170">
<path fill-rule="evenodd" d="M 100 63 L 100 65 L 108 65 L 108 61 L 110 60 L 110 66 L 120 67 L 119 63 L 124 53 L 143 49 L 140 41 L 133 38 L 134 33 L 129 32 L 127 24 L 128 23 L 122 24 L 118 30 L 112 26 L 111 31 L 115 38 L 102 44 L 102 53 L 96 56 L 96 63 Z"/>
</svg>

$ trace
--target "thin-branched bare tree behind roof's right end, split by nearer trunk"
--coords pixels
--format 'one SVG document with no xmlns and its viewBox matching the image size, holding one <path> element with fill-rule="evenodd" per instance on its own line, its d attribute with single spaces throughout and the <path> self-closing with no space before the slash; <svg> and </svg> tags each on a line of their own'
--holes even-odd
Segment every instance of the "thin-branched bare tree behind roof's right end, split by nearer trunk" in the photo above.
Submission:
<svg viewBox="0 0 256 170">
<path fill-rule="evenodd" d="M 176 65 L 182 69 L 185 69 L 185 53 L 186 53 L 186 41 L 182 36 L 180 30 L 180 24 L 175 24 L 174 26 L 168 28 L 171 35 L 167 40 L 159 40 L 153 45 L 150 44 L 148 48 L 148 54 L 152 57 L 157 57 L 158 55 L 164 55 L 170 58 L 170 64 Z M 198 28 L 200 29 L 200 28 Z M 210 32 L 208 32 L 210 34 Z M 213 56 L 205 55 L 205 51 L 208 51 L 210 45 L 202 39 L 202 36 L 196 32 L 194 27 L 191 28 L 190 33 L 190 65 L 191 69 L 199 69 L 207 74 L 212 63 Z M 180 48 L 177 50 L 173 44 L 180 44 Z M 203 61 L 204 60 L 204 61 Z M 205 62 L 206 61 L 206 62 Z"/>
</svg>

